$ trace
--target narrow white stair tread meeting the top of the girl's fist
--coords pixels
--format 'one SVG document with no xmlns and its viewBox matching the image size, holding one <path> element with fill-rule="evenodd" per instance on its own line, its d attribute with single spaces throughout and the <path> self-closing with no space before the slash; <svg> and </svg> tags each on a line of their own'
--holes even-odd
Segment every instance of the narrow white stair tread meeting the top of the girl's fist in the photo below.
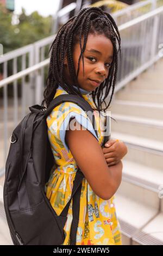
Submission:
<svg viewBox="0 0 163 256">
<path fill-rule="evenodd" d="M 134 135 L 128 135 L 127 133 L 118 133 L 118 132 L 111 132 L 111 138 L 120 139 L 124 143 L 129 143 L 129 144 L 163 152 L 163 143 L 159 141 L 155 141 L 154 139 L 148 139 L 148 138 L 138 137 Z"/>
</svg>

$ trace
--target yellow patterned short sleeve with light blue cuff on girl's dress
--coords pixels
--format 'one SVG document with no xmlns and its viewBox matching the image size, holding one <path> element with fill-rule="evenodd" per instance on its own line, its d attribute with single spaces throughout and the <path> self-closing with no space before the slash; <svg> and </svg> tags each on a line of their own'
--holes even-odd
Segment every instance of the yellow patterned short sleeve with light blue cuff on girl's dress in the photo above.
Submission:
<svg viewBox="0 0 163 256">
<path fill-rule="evenodd" d="M 55 131 L 59 141 L 62 143 L 67 152 L 70 150 L 65 142 L 66 130 L 68 130 L 69 122 L 71 118 L 75 118 L 76 121 L 84 127 L 84 129 L 90 131 L 98 141 L 93 125 L 87 114 L 81 107 L 72 102 L 64 102 L 59 105 L 58 109 L 53 109 L 55 117 L 52 123 L 52 132 Z M 58 120 L 58 121 L 57 121 Z"/>
</svg>

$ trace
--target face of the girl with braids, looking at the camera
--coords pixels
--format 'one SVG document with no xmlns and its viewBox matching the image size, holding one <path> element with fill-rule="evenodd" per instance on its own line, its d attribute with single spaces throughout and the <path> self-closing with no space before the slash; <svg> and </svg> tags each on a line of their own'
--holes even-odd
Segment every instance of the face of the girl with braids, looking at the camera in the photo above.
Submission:
<svg viewBox="0 0 163 256">
<path fill-rule="evenodd" d="M 82 47 L 84 39 L 82 38 Z M 78 59 L 80 56 L 79 42 L 74 45 L 73 60 L 76 74 L 78 70 Z M 109 68 L 113 57 L 113 46 L 110 39 L 104 35 L 87 36 L 86 48 L 83 53 L 84 74 L 82 58 L 79 63 L 78 83 L 79 87 L 92 92 L 108 77 Z M 71 83 L 70 73 L 68 71 L 67 60 L 65 61 L 65 75 L 67 81 Z"/>
</svg>

